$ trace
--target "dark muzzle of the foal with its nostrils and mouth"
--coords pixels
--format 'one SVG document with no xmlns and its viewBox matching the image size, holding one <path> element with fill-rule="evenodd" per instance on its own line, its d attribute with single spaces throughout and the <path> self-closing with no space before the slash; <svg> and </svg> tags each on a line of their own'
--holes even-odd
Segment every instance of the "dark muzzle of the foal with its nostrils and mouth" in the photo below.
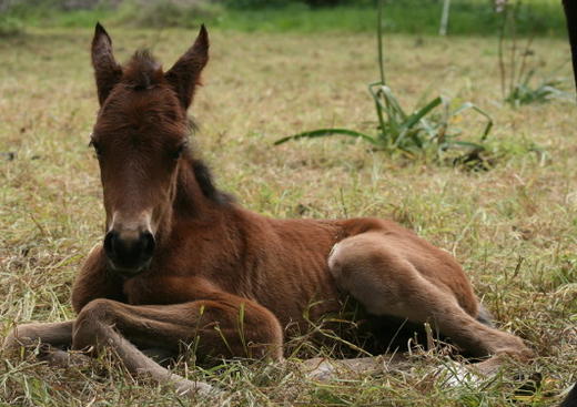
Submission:
<svg viewBox="0 0 577 407">
<path fill-rule="evenodd" d="M 111 268 L 126 276 L 143 272 L 150 265 L 154 246 L 154 236 L 149 231 L 111 230 L 104 237 L 104 252 Z"/>
</svg>

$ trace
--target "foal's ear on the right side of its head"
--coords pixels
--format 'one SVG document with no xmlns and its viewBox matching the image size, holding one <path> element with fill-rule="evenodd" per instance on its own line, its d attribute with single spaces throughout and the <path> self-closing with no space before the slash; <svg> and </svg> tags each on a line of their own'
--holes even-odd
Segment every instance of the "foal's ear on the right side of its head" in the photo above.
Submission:
<svg viewBox="0 0 577 407">
<path fill-rule="evenodd" d="M 194 44 L 164 75 L 184 109 L 188 109 L 192 102 L 194 88 L 199 83 L 201 71 L 206 62 L 209 62 L 209 33 L 202 24 Z"/>
</svg>

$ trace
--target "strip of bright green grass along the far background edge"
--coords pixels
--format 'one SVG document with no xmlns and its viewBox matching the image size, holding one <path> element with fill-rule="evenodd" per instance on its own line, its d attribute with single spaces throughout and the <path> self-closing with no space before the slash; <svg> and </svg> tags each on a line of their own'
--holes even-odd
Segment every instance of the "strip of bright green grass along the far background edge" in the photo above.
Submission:
<svg viewBox="0 0 577 407">
<path fill-rule="evenodd" d="M 202 20 L 211 27 L 244 32 L 370 32 L 374 30 L 376 8 L 344 4 L 333 8 L 310 9 L 303 3 L 286 7 L 234 8 L 179 7 L 161 0 L 146 6 L 125 1 L 119 10 L 59 11 L 49 6 L 19 6 L 7 16 L 32 27 L 92 27 L 101 20 L 109 26 L 132 24 L 143 28 L 196 27 Z M 40 1 L 42 4 L 42 1 Z M 388 1 L 384 10 L 385 32 L 432 35 L 438 33 L 442 3 L 431 0 Z M 448 33 L 451 35 L 496 35 L 500 16 L 486 0 L 455 0 L 452 2 Z M 1 26 L 1 18 L 0 18 Z M 555 0 L 525 1 L 519 10 L 517 30 L 520 35 L 536 33 L 566 37 L 565 18 L 560 3 Z"/>
</svg>

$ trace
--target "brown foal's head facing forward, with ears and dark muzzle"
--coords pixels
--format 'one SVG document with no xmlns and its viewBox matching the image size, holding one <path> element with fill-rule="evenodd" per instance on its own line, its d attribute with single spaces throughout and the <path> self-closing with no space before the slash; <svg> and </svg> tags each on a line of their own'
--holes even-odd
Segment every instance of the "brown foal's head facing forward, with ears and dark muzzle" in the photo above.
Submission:
<svg viewBox="0 0 577 407">
<path fill-rule="evenodd" d="M 209 60 L 204 26 L 194 44 L 168 72 L 148 52 L 123 67 L 97 24 L 92 64 L 100 111 L 91 144 L 100 164 L 112 269 L 134 275 L 150 264 L 159 228 L 170 216 L 176 174 L 186 155 L 186 109 Z"/>
</svg>

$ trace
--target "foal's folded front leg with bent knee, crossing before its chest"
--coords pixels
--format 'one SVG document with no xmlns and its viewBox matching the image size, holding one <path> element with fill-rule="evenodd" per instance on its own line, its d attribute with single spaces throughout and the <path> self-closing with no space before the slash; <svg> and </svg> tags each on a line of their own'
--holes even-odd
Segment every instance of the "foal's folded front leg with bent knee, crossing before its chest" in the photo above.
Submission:
<svg viewBox="0 0 577 407">
<path fill-rule="evenodd" d="M 132 374 L 172 384 L 182 395 L 214 390 L 206 383 L 170 373 L 139 347 L 178 353 L 182 345 L 194 344 L 199 352 L 217 356 L 282 357 L 282 329 L 272 313 L 233 295 L 219 293 L 212 297 L 154 306 L 94 299 L 82 308 L 74 323 L 73 348 L 109 348 Z"/>
</svg>

